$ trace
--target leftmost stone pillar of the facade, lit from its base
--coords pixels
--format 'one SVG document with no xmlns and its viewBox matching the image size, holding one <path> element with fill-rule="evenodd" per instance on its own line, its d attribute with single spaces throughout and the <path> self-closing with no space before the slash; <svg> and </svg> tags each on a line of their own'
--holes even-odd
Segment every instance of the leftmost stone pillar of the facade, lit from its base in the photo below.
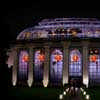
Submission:
<svg viewBox="0 0 100 100">
<path fill-rule="evenodd" d="M 18 68 L 18 55 L 17 55 L 17 48 L 14 49 L 14 65 L 12 67 L 12 84 L 16 86 L 17 83 L 17 68 Z"/>
</svg>

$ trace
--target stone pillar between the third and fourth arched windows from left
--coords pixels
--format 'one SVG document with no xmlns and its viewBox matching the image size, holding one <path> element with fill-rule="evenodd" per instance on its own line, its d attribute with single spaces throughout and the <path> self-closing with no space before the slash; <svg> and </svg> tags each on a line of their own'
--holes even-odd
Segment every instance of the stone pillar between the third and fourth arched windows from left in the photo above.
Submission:
<svg viewBox="0 0 100 100">
<path fill-rule="evenodd" d="M 69 42 L 63 42 L 63 85 L 68 84 L 68 55 L 69 54 Z"/>
</svg>

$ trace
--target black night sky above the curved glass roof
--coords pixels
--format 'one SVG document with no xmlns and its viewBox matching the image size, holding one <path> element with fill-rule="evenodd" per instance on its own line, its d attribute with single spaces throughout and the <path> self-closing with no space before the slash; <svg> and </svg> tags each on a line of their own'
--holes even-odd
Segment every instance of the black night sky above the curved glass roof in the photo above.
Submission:
<svg viewBox="0 0 100 100">
<path fill-rule="evenodd" d="M 72 3 L 47 2 L 4 2 L 2 5 L 2 37 L 5 41 L 15 40 L 19 32 L 27 27 L 34 26 L 43 18 L 52 17 L 97 17 L 99 8 L 93 6 L 71 5 Z"/>
</svg>

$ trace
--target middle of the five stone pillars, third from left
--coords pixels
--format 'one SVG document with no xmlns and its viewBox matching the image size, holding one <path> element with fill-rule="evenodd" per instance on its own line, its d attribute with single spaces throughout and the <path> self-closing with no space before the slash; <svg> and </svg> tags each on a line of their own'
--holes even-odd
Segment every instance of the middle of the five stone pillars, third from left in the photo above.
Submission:
<svg viewBox="0 0 100 100">
<path fill-rule="evenodd" d="M 45 62 L 44 62 L 44 73 L 43 73 L 43 85 L 44 87 L 48 86 L 49 83 L 49 47 L 45 46 Z"/>
</svg>

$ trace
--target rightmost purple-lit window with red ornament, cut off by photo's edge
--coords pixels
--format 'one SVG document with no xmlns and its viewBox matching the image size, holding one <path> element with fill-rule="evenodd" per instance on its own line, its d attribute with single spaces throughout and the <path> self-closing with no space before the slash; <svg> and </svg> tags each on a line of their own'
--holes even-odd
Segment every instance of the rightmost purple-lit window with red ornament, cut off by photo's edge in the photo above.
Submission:
<svg viewBox="0 0 100 100">
<path fill-rule="evenodd" d="M 100 83 L 100 49 L 89 50 L 89 80 L 90 83 Z"/>
</svg>

